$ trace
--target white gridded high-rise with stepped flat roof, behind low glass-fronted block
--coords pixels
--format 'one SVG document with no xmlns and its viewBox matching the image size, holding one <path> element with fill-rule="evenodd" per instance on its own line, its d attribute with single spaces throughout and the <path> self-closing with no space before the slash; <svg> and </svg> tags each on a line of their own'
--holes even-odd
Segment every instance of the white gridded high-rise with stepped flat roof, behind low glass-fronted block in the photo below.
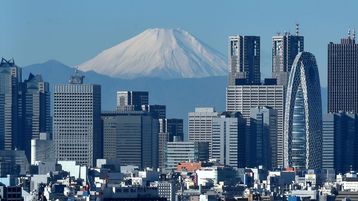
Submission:
<svg viewBox="0 0 358 201">
<path fill-rule="evenodd" d="M 195 108 L 195 112 L 189 112 L 189 142 L 208 142 L 209 158 L 212 158 L 212 121 L 217 115 L 215 108 Z"/>
</svg>

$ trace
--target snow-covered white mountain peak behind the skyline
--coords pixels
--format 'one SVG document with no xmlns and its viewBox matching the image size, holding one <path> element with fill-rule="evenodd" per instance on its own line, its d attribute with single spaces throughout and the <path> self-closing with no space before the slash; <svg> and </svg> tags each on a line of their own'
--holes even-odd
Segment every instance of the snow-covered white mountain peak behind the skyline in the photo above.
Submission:
<svg viewBox="0 0 358 201">
<path fill-rule="evenodd" d="M 148 29 L 78 69 L 111 77 L 200 78 L 227 75 L 227 57 L 182 29 Z"/>
</svg>

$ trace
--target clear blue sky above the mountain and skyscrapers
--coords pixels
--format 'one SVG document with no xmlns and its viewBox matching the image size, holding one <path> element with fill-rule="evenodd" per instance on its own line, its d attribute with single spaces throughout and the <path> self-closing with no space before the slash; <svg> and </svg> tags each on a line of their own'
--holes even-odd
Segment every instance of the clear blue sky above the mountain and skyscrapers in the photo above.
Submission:
<svg viewBox="0 0 358 201">
<path fill-rule="evenodd" d="M 357 1 L 2 1 L 0 57 L 26 66 L 56 59 L 74 67 L 150 28 L 182 28 L 228 55 L 228 36 L 261 36 L 261 73 L 271 75 L 272 36 L 295 32 L 327 85 L 327 44 L 347 38 Z"/>
</svg>

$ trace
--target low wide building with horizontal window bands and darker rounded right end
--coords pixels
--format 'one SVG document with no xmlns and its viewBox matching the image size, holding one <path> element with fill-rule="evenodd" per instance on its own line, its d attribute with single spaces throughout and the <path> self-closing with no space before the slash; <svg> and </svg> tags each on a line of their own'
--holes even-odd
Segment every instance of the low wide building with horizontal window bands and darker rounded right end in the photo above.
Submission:
<svg viewBox="0 0 358 201">
<path fill-rule="evenodd" d="M 163 168 L 177 169 L 180 162 L 208 160 L 208 142 L 165 142 Z"/>
</svg>

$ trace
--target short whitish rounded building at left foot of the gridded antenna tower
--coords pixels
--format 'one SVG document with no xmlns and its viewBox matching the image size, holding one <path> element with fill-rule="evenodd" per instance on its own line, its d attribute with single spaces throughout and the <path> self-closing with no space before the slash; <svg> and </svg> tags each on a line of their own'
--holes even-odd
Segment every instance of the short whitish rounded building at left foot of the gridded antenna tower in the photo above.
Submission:
<svg viewBox="0 0 358 201">
<path fill-rule="evenodd" d="M 39 139 L 31 140 L 31 165 L 35 161 L 54 161 L 53 140 L 49 133 L 40 133 Z"/>
</svg>

